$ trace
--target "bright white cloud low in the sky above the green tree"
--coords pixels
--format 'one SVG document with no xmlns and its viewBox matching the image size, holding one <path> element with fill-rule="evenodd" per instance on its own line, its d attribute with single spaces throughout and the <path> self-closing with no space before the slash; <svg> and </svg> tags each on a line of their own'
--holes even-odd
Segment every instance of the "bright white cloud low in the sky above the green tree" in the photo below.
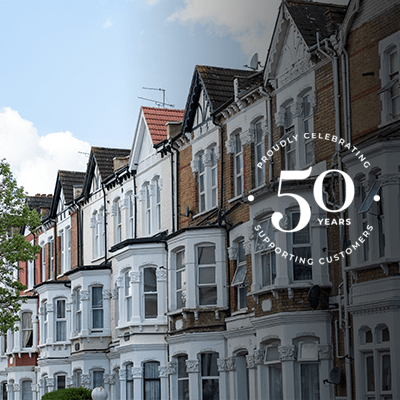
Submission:
<svg viewBox="0 0 400 400">
<path fill-rule="evenodd" d="M 90 144 L 69 131 L 39 136 L 32 122 L 9 107 L 0 111 L 0 143 L 0 157 L 29 195 L 52 194 L 58 170 L 85 171 L 87 157 L 79 152 L 90 152 Z"/>
</svg>

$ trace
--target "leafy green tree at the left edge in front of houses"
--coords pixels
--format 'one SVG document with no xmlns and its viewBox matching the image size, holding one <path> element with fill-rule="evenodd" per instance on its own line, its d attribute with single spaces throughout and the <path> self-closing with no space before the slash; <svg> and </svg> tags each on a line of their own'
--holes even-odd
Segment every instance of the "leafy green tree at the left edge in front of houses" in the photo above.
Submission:
<svg viewBox="0 0 400 400">
<path fill-rule="evenodd" d="M 40 217 L 30 210 L 22 187 L 12 175 L 10 165 L 0 160 L 0 334 L 15 330 L 24 298 L 25 287 L 15 279 L 19 261 L 34 260 L 40 246 L 25 240 L 20 231 L 27 227 L 36 233 Z"/>
</svg>

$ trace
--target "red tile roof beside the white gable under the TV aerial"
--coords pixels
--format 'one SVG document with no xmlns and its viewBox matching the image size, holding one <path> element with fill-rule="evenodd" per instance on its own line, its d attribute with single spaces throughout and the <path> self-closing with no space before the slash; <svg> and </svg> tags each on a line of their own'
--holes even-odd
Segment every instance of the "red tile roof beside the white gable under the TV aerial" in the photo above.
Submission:
<svg viewBox="0 0 400 400">
<path fill-rule="evenodd" d="M 167 122 L 179 122 L 183 119 L 185 110 L 173 108 L 142 107 L 153 144 L 167 138 Z"/>
</svg>

